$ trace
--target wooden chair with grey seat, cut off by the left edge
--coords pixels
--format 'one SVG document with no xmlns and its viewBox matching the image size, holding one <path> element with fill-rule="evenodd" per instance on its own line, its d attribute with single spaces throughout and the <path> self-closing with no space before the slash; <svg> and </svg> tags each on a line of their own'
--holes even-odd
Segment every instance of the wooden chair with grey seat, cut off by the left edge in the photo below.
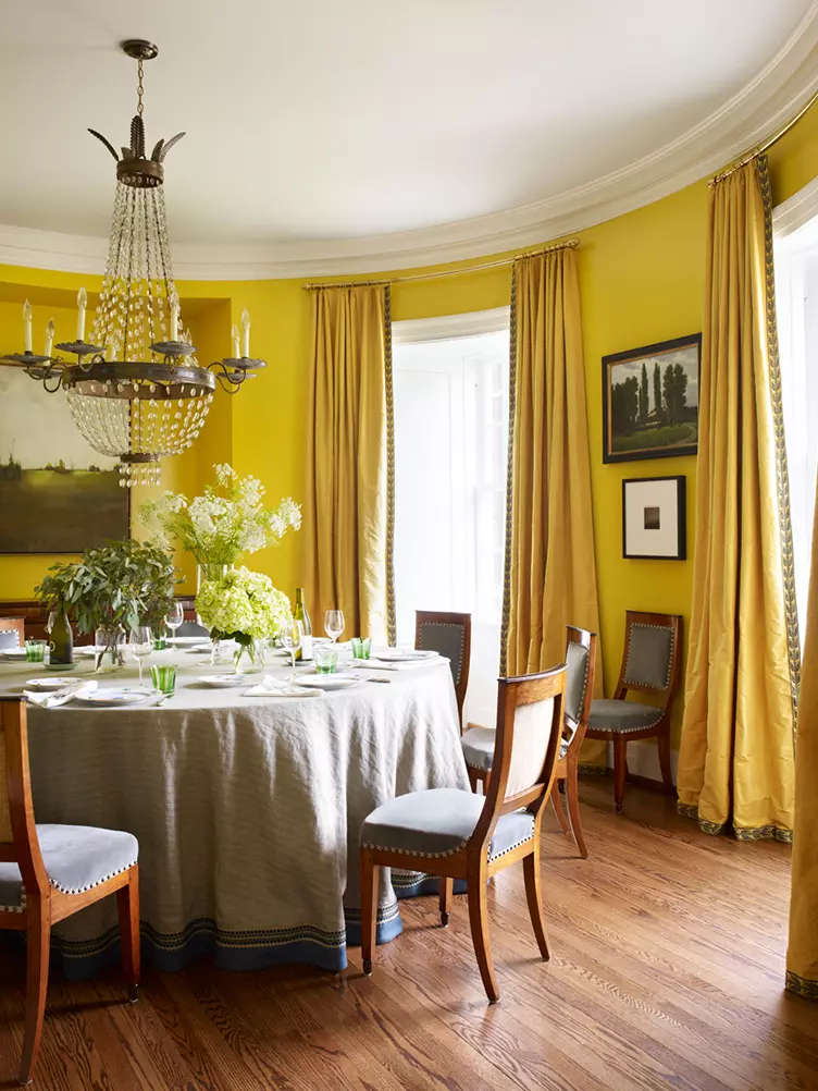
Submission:
<svg viewBox="0 0 818 1091">
<path fill-rule="evenodd" d="M 25 700 L 0 696 L 0 930 L 26 934 L 20 1083 L 31 1083 L 43 1034 L 51 926 L 117 895 L 130 998 L 140 982 L 139 844 L 131 834 L 35 825 Z"/>
</svg>

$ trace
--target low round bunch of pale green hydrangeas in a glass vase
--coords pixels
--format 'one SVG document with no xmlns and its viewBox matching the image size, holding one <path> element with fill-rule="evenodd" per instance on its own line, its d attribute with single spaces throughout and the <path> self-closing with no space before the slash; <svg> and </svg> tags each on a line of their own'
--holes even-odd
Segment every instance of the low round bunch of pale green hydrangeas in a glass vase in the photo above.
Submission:
<svg viewBox="0 0 818 1091">
<path fill-rule="evenodd" d="M 249 568 L 231 568 L 220 579 L 208 579 L 196 595 L 196 613 L 210 638 L 236 640 L 236 670 L 244 651 L 255 664 L 264 643 L 292 627 L 290 603 L 269 576 Z"/>
</svg>

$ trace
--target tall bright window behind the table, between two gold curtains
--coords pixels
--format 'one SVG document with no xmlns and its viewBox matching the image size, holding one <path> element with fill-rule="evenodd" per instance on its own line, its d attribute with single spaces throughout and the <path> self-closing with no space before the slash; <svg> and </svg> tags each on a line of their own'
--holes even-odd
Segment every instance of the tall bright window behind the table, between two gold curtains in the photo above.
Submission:
<svg viewBox="0 0 818 1091">
<path fill-rule="evenodd" d="M 398 643 L 416 610 L 472 615 L 465 716 L 493 724 L 503 610 L 508 310 L 395 323 Z"/>
</svg>

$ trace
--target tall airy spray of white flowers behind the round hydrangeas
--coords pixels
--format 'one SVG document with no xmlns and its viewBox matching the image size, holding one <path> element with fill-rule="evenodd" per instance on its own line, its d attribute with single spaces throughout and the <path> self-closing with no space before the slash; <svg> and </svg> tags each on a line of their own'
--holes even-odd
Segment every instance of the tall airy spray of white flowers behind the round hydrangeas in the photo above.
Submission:
<svg viewBox="0 0 818 1091">
<path fill-rule="evenodd" d="M 189 502 L 166 492 L 140 506 L 140 519 L 158 546 L 171 549 L 178 542 L 201 565 L 229 565 L 300 528 L 301 506 L 289 496 L 267 511 L 257 478 L 240 478 L 227 464 L 214 469 L 217 484 L 206 485 L 201 496 Z"/>
</svg>

